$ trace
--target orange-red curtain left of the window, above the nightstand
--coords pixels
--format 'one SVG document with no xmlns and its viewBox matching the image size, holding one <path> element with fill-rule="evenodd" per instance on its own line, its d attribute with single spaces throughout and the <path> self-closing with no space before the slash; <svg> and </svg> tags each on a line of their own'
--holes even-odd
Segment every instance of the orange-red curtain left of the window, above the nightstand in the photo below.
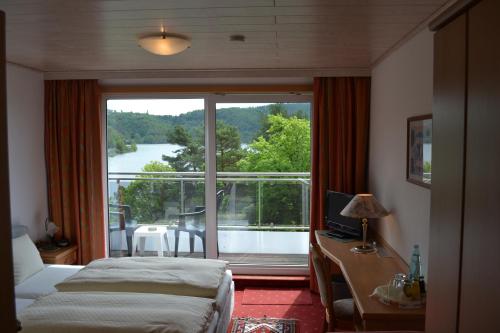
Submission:
<svg viewBox="0 0 500 333">
<path fill-rule="evenodd" d="M 105 256 L 101 136 L 97 80 L 45 81 L 49 214 L 79 264 Z"/>
</svg>

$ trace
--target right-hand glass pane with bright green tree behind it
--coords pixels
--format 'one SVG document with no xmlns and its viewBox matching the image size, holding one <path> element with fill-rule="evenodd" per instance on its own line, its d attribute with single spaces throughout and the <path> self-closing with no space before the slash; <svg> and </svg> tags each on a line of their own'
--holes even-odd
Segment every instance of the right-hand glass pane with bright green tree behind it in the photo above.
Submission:
<svg viewBox="0 0 500 333">
<path fill-rule="evenodd" d="M 219 256 L 307 265 L 310 103 L 217 103 Z"/>
</svg>

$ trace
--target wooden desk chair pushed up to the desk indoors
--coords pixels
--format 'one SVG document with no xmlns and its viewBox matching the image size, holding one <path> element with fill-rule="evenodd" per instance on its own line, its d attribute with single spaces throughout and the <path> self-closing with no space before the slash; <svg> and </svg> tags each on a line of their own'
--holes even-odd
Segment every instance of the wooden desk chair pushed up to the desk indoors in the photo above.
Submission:
<svg viewBox="0 0 500 333">
<path fill-rule="evenodd" d="M 354 302 L 352 298 L 334 300 L 334 291 L 330 277 L 330 270 L 317 244 L 309 245 L 311 258 L 318 280 L 321 304 L 326 310 L 327 331 L 335 328 L 354 330 Z"/>
</svg>

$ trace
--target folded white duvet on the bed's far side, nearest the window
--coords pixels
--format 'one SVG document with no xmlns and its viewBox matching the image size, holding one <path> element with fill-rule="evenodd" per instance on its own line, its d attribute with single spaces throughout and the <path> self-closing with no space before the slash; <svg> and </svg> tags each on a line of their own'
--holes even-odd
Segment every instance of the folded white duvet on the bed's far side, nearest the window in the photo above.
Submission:
<svg viewBox="0 0 500 333">
<path fill-rule="evenodd" d="M 59 291 L 114 291 L 215 298 L 227 263 L 221 260 L 141 257 L 89 263 L 56 284 Z"/>
</svg>

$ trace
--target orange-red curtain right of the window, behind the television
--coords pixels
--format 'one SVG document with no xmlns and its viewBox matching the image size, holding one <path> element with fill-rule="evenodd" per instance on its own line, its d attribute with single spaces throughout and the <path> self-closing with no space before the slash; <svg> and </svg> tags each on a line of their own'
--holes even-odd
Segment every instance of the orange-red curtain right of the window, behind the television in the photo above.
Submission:
<svg viewBox="0 0 500 333">
<path fill-rule="evenodd" d="M 314 79 L 310 241 L 325 229 L 326 190 L 361 193 L 367 188 L 370 78 Z M 312 263 L 311 289 L 317 291 Z"/>
</svg>

